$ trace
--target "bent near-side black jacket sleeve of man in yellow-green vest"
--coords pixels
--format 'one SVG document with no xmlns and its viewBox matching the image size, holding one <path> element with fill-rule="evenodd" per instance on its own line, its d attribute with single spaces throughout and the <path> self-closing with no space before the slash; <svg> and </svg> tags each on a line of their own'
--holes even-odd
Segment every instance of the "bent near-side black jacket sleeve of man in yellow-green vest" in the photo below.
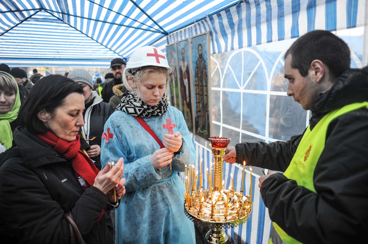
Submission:
<svg viewBox="0 0 368 244">
<path fill-rule="evenodd" d="M 329 124 L 313 175 L 316 193 L 280 173 L 263 181 L 271 220 L 302 243 L 367 243 L 368 112 L 362 111 Z"/>
</svg>

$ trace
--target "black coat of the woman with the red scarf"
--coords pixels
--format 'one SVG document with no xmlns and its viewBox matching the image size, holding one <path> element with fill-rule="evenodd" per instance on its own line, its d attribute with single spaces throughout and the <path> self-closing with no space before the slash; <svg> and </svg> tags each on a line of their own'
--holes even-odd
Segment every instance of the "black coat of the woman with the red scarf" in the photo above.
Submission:
<svg viewBox="0 0 368 244">
<path fill-rule="evenodd" d="M 83 191 L 71 162 L 26 129 L 17 128 L 14 141 L 0 154 L 1 240 L 70 244 L 63 215 L 71 210 L 87 244 L 113 243 L 105 219 L 96 221 L 106 195 L 94 187 Z"/>
</svg>

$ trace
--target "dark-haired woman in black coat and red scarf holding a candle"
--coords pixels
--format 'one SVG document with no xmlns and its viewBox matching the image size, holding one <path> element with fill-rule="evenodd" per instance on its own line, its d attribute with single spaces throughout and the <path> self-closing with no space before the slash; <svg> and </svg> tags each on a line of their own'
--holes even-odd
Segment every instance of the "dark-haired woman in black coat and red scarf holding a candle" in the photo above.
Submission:
<svg viewBox="0 0 368 244">
<path fill-rule="evenodd" d="M 124 163 L 99 171 L 80 150 L 83 109 L 81 86 L 61 75 L 37 82 L 21 106 L 17 146 L 0 155 L 2 243 L 69 244 L 67 212 L 86 243 L 113 243 L 103 216 L 125 194 Z"/>
</svg>

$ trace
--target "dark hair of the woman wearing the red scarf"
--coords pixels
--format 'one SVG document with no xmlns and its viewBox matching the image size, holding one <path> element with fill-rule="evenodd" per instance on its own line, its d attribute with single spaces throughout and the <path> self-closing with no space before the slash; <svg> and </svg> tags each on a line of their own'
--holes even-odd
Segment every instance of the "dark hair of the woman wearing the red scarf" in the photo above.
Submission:
<svg viewBox="0 0 368 244">
<path fill-rule="evenodd" d="M 53 114 L 55 110 L 64 104 L 65 98 L 72 93 L 83 95 L 83 88 L 72 79 L 62 75 L 49 75 L 40 79 L 32 88 L 26 101 L 19 109 L 19 125 L 32 134 L 43 134 L 49 129 L 37 114 L 45 109 Z"/>
</svg>

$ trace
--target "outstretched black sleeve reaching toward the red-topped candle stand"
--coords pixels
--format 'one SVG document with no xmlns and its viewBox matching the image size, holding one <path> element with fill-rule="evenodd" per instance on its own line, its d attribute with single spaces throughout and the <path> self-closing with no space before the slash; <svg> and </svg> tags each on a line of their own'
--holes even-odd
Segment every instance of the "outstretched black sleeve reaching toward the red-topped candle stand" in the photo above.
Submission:
<svg viewBox="0 0 368 244">
<path fill-rule="evenodd" d="M 304 133 L 303 133 L 304 134 Z M 291 137 L 287 142 L 239 143 L 235 146 L 237 163 L 257 166 L 275 171 L 285 171 L 303 136 Z"/>
</svg>

